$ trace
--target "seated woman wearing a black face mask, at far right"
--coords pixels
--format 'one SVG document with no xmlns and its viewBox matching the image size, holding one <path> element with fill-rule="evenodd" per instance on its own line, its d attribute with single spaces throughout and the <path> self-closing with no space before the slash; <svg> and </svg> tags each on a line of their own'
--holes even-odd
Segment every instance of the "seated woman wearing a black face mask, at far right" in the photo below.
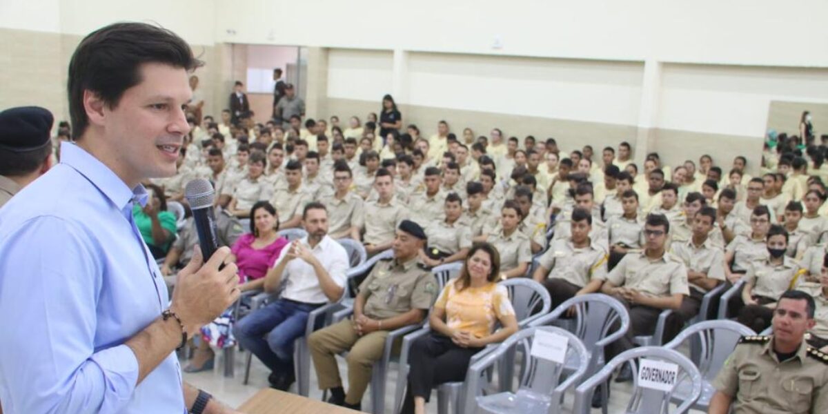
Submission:
<svg viewBox="0 0 828 414">
<path fill-rule="evenodd" d="M 787 231 L 773 224 L 768 231 L 768 258 L 750 264 L 742 291 L 744 307 L 739 310 L 739 323 L 755 332 L 762 332 L 771 325 L 773 310 L 779 296 L 800 283 L 799 264 L 785 255 Z"/>
</svg>

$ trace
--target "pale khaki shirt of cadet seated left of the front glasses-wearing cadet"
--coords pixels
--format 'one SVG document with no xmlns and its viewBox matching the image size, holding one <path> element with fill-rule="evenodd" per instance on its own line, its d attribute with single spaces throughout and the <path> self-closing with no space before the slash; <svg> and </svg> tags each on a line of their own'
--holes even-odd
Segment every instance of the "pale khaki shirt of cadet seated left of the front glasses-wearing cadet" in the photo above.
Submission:
<svg viewBox="0 0 828 414">
<path fill-rule="evenodd" d="M 550 270 L 548 278 L 563 279 L 584 287 L 593 279 L 607 277 L 607 251 L 591 242 L 585 248 L 575 248 L 570 238 L 553 240 L 538 263 Z"/>
</svg>

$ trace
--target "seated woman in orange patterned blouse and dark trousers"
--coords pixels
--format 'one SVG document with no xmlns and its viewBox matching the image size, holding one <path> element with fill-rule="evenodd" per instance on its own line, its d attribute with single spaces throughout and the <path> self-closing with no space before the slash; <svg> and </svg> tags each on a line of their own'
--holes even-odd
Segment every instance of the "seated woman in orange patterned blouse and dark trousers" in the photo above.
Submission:
<svg viewBox="0 0 828 414">
<path fill-rule="evenodd" d="M 460 277 L 445 286 L 431 310 L 431 333 L 412 344 L 403 413 L 425 413 L 431 388 L 463 381 L 472 355 L 517 332 L 508 292 L 496 282 L 499 275 L 497 248 L 490 243 L 475 244 Z M 495 331 L 497 322 L 503 328 Z"/>
</svg>

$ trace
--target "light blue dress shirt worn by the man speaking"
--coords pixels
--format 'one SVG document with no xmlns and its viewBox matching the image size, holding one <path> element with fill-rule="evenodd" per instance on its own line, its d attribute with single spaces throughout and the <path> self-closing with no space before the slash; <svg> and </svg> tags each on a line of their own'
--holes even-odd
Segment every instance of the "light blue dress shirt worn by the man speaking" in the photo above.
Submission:
<svg viewBox="0 0 828 414">
<path fill-rule="evenodd" d="M 0 402 L 5 414 L 186 412 L 171 353 L 136 386 L 123 344 L 167 306 L 132 205 L 147 202 L 75 144 L 0 209 Z"/>
</svg>

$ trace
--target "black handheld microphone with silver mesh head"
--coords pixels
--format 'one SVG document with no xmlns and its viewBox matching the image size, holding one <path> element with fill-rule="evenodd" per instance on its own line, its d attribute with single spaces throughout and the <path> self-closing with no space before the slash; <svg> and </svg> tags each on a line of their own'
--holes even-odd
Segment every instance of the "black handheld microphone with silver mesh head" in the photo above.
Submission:
<svg viewBox="0 0 828 414">
<path fill-rule="evenodd" d="M 213 210 L 213 201 L 215 200 L 213 185 L 203 178 L 196 178 L 187 183 L 184 195 L 187 201 L 190 202 L 190 209 L 193 211 L 195 232 L 199 236 L 201 256 L 207 262 L 209 258 L 213 257 L 213 253 L 219 249 L 219 238 L 216 235 Z M 224 265 L 221 267 L 224 267 Z"/>
</svg>

